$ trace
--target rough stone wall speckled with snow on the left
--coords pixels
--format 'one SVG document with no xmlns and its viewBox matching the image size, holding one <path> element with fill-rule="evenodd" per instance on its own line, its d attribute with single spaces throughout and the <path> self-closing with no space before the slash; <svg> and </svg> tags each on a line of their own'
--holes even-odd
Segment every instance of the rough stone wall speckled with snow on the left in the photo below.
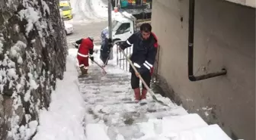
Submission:
<svg viewBox="0 0 256 140">
<path fill-rule="evenodd" d="M 0 1 L 0 139 L 30 139 L 66 70 L 57 0 Z"/>
</svg>

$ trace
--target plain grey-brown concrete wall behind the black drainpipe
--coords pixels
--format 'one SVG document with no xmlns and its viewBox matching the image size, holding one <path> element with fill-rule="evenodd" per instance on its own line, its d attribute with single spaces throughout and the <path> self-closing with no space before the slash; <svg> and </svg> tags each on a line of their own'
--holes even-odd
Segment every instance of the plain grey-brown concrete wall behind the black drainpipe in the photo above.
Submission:
<svg viewBox="0 0 256 140">
<path fill-rule="evenodd" d="M 153 1 L 158 74 L 190 112 L 219 123 L 233 138 L 254 140 L 256 10 L 222 0 L 196 0 L 194 73 L 228 70 L 226 76 L 199 82 L 187 78 L 187 22 L 188 0 Z"/>
</svg>

